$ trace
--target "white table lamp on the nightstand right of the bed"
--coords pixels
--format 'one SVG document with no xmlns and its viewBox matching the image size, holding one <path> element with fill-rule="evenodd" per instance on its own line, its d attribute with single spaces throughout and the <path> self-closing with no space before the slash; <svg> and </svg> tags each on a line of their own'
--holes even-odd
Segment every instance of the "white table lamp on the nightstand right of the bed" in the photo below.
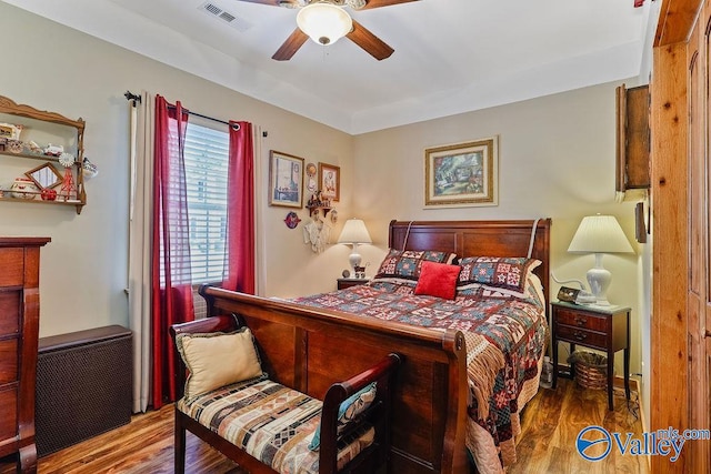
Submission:
<svg viewBox="0 0 711 474">
<path fill-rule="evenodd" d="M 595 304 L 607 306 L 608 288 L 612 274 L 602 266 L 604 253 L 632 253 L 632 245 L 627 240 L 620 223 L 614 215 L 589 215 L 582 222 L 570 242 L 568 251 L 571 253 L 594 253 L 595 266 L 588 270 L 587 278 L 590 291 L 595 296 Z"/>
</svg>

